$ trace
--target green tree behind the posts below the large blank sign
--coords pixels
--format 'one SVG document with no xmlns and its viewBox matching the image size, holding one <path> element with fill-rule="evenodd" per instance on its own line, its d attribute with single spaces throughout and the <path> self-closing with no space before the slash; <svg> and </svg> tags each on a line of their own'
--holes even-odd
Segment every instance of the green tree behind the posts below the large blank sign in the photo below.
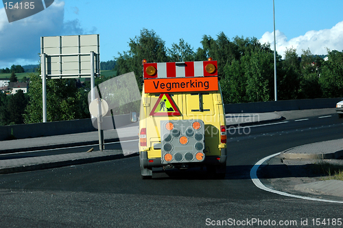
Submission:
<svg viewBox="0 0 343 228">
<path fill-rule="evenodd" d="M 25 124 L 43 121 L 42 81 L 31 74 L 29 83 L 29 104 L 25 109 Z M 75 87 L 75 80 L 47 80 L 47 121 L 82 118 L 81 95 Z"/>
</svg>

